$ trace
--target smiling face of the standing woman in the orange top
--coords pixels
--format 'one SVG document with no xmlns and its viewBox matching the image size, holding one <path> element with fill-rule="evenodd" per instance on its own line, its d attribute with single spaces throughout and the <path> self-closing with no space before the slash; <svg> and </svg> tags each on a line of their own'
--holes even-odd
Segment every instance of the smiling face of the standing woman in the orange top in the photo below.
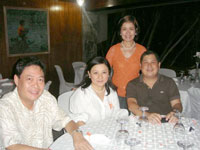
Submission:
<svg viewBox="0 0 200 150">
<path fill-rule="evenodd" d="M 134 24 L 132 22 L 124 22 L 120 30 L 120 35 L 125 42 L 133 41 L 136 35 Z"/>
</svg>

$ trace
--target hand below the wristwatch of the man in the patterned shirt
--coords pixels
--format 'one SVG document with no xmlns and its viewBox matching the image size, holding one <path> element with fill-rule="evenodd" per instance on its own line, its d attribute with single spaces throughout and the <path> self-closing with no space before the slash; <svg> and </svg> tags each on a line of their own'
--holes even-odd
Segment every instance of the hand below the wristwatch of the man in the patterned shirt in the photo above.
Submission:
<svg viewBox="0 0 200 150">
<path fill-rule="evenodd" d="M 75 150 L 93 150 L 94 148 L 83 137 L 82 133 L 75 132 L 73 134 L 74 148 Z"/>
</svg>

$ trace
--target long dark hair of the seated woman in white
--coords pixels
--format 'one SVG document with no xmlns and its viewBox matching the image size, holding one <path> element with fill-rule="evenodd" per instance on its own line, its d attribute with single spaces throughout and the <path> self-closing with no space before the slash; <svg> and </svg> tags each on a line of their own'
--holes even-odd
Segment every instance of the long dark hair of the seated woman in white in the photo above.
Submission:
<svg viewBox="0 0 200 150">
<path fill-rule="evenodd" d="M 92 83 L 92 81 L 89 78 L 88 72 L 91 71 L 91 69 L 92 69 L 93 66 L 99 65 L 99 64 L 105 64 L 108 67 L 109 78 L 108 78 L 108 81 L 105 84 L 105 88 L 106 88 L 106 91 L 108 93 L 107 95 L 109 95 L 110 94 L 110 88 L 109 87 L 111 87 L 113 90 L 115 90 L 115 86 L 112 84 L 112 81 L 111 81 L 111 71 L 112 70 L 111 70 L 110 64 L 109 64 L 109 62 L 104 57 L 95 57 L 95 58 L 92 58 L 87 63 L 86 69 L 84 71 L 83 80 L 82 80 L 82 82 L 78 86 L 80 86 L 83 89 L 85 89 L 88 86 L 90 86 L 90 84 Z"/>
</svg>

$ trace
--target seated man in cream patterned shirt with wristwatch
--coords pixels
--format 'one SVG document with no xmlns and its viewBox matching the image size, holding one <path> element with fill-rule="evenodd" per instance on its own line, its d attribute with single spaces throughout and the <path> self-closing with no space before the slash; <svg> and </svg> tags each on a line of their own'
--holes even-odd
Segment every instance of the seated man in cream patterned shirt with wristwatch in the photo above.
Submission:
<svg viewBox="0 0 200 150">
<path fill-rule="evenodd" d="M 44 90 L 45 67 L 36 57 L 19 59 L 15 66 L 16 88 L 0 99 L 0 139 L 7 150 L 48 150 L 52 128 L 65 128 L 76 150 L 92 150 L 77 125 Z"/>
</svg>

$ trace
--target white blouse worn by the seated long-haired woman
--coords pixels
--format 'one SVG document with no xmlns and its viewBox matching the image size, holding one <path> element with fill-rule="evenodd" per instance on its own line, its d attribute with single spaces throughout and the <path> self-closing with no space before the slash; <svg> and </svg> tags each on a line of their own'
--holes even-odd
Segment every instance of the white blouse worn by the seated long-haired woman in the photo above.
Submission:
<svg viewBox="0 0 200 150">
<path fill-rule="evenodd" d="M 119 108 L 117 92 L 110 88 L 110 94 L 105 92 L 104 99 L 101 100 L 92 89 L 81 89 L 79 87 L 70 98 L 71 117 L 76 122 L 96 122 L 106 117 L 128 115 L 127 110 Z"/>
</svg>

